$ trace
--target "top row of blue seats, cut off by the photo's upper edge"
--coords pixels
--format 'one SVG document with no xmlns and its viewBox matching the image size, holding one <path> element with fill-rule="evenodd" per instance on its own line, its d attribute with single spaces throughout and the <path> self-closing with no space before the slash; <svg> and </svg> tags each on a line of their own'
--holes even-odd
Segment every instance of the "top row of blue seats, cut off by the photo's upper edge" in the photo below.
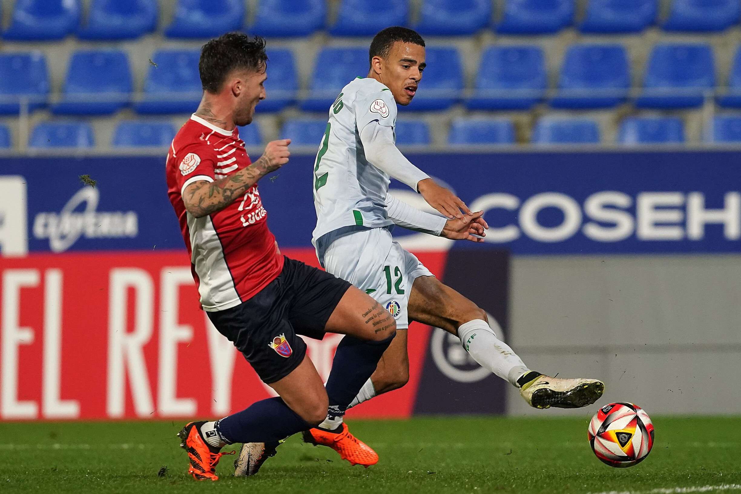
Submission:
<svg viewBox="0 0 741 494">
<path fill-rule="evenodd" d="M 493 0 L 424 0 L 419 22 L 425 35 L 470 35 L 492 25 Z M 505 0 L 494 30 L 502 34 L 556 33 L 574 24 L 575 0 Z M 590 0 L 579 23 L 584 33 L 636 33 L 657 21 L 658 0 Z M 333 36 L 373 36 L 391 25 L 409 25 L 408 0 L 342 0 L 328 25 L 325 0 L 260 0 L 253 24 L 245 26 L 245 0 L 178 0 L 165 36 L 202 39 L 245 29 L 260 36 L 308 36 L 325 26 Z M 721 31 L 737 24 L 737 0 L 674 0 L 662 22 L 667 31 Z M 80 0 L 18 0 L 8 40 L 134 39 L 156 30 L 157 0 L 93 0 L 81 24 Z"/>
</svg>

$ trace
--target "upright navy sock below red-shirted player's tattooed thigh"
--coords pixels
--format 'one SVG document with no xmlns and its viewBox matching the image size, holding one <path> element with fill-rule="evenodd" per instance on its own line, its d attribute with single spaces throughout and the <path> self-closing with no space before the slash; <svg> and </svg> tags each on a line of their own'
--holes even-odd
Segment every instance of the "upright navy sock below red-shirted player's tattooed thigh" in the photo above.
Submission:
<svg viewBox="0 0 741 494">
<path fill-rule="evenodd" d="M 342 416 L 365 381 L 376 370 L 378 361 L 396 333 L 381 341 L 365 341 L 345 336 L 337 345 L 332 371 L 327 379 L 329 415 Z"/>
</svg>

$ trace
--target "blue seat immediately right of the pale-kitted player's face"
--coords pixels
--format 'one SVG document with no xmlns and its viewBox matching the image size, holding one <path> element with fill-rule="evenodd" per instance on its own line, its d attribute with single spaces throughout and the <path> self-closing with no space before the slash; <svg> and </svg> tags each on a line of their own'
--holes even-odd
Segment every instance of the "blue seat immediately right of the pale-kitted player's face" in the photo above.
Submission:
<svg viewBox="0 0 741 494">
<path fill-rule="evenodd" d="M 463 70 L 457 48 L 428 47 L 422 83 L 416 95 L 400 111 L 447 110 L 460 99 Z"/>
</svg>

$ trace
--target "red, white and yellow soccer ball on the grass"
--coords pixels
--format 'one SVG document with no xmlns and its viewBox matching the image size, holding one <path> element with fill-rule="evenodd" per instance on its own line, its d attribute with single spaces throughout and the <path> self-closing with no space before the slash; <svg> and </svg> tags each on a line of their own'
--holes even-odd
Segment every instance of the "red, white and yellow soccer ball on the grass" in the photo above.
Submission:
<svg viewBox="0 0 741 494">
<path fill-rule="evenodd" d="M 654 446 L 654 424 L 648 413 L 632 403 L 611 403 L 589 422 L 589 445 L 602 463 L 632 467 Z"/>
</svg>

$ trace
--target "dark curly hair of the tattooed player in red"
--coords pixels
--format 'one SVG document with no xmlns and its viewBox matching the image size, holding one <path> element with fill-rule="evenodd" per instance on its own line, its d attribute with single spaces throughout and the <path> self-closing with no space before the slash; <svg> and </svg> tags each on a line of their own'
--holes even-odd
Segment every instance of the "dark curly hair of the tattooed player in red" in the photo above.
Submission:
<svg viewBox="0 0 741 494">
<path fill-rule="evenodd" d="M 244 33 L 226 33 L 212 39 L 201 48 L 198 62 L 203 90 L 219 93 L 232 70 L 261 70 L 266 61 L 264 38 L 255 36 L 250 39 Z"/>
</svg>

